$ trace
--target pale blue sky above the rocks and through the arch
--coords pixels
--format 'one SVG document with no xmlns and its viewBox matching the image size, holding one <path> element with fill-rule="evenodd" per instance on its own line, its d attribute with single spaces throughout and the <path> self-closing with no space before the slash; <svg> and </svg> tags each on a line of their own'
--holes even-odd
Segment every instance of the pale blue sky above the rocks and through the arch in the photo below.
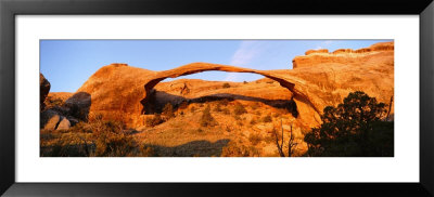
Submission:
<svg viewBox="0 0 434 197">
<path fill-rule="evenodd" d="M 112 63 L 165 70 L 193 62 L 254 69 L 292 69 L 310 49 L 359 49 L 391 40 L 41 40 L 40 70 L 50 92 L 75 92 L 99 68 Z M 204 71 L 180 78 L 252 81 L 255 74 Z"/>
</svg>

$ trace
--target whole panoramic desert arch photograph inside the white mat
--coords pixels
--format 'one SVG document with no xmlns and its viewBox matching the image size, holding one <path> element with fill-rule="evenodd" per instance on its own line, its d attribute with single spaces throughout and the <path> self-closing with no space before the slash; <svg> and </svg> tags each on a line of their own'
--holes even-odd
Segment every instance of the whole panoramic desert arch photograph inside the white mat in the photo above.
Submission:
<svg viewBox="0 0 434 197">
<path fill-rule="evenodd" d="M 40 40 L 40 157 L 394 157 L 394 40 Z"/>
</svg>

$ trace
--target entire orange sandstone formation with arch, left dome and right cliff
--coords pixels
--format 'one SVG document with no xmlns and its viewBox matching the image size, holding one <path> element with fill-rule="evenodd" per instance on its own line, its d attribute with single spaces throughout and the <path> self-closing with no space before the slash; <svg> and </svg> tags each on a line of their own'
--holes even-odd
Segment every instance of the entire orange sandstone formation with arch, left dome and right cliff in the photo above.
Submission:
<svg viewBox="0 0 434 197">
<path fill-rule="evenodd" d="M 221 89 L 220 83 L 188 79 L 162 82 L 166 78 L 207 70 L 258 74 L 269 78 L 271 82 L 250 82 L 243 88 L 239 86 L 238 89 L 237 84 L 233 88 L 231 86 L 229 89 Z M 265 88 L 271 87 L 272 81 L 277 81 L 276 88 Z M 247 87 L 252 91 L 248 91 Z M 263 91 L 257 91 L 263 87 Z M 169 70 L 152 71 L 126 64 L 112 64 L 93 74 L 77 93 L 86 94 L 79 97 L 88 101 L 84 103 L 90 104 L 89 115 L 101 114 L 106 119 L 123 120 L 129 127 L 142 124 L 144 106 L 149 103 L 153 90 L 156 90 L 155 94 L 159 98 L 166 97 L 167 101 L 182 101 L 186 97 L 193 98 L 205 94 L 293 100 L 299 114 L 297 118 L 314 127 L 320 123 L 319 115 L 323 107 L 341 103 L 349 92 L 361 90 L 388 104 L 393 96 L 393 87 L 394 43 L 386 42 L 359 50 L 342 49 L 331 53 L 328 50 L 308 51 L 306 55 L 293 60 L 293 69 L 280 70 L 192 63 Z"/>
</svg>

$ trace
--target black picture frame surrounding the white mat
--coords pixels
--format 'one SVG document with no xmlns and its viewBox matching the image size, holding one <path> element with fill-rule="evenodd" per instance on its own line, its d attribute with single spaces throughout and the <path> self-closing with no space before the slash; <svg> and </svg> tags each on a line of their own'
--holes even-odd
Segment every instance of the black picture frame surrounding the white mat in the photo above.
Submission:
<svg viewBox="0 0 434 197">
<path fill-rule="evenodd" d="M 420 16 L 419 183 L 16 183 L 15 16 L 26 14 L 413 14 Z M 432 0 L 0 0 L 0 194 L 4 196 L 434 196 Z M 414 128 L 417 129 L 417 128 Z M 399 173 L 399 172 L 396 172 Z"/>
</svg>

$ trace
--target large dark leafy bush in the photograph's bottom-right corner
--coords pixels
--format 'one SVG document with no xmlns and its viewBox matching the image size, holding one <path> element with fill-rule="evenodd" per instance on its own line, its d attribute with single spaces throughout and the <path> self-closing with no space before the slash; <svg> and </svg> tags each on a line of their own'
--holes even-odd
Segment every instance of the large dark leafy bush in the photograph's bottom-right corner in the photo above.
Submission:
<svg viewBox="0 0 434 197">
<path fill-rule="evenodd" d="M 327 106 L 322 123 L 305 135 L 309 156 L 393 157 L 394 122 L 382 121 L 386 105 L 352 92 L 337 107 Z"/>
</svg>

